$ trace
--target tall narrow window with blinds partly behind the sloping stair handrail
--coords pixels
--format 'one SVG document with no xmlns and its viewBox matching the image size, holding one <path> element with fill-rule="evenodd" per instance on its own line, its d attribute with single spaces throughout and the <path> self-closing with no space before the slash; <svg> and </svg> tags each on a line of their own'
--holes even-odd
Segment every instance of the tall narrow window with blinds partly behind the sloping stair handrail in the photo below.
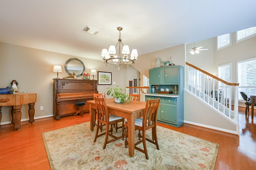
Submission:
<svg viewBox="0 0 256 170">
<path fill-rule="evenodd" d="M 231 63 L 218 66 L 218 77 L 226 82 L 231 82 Z M 222 82 L 219 82 L 219 88 L 222 89 Z M 222 89 L 224 90 L 224 89 Z M 225 88 L 226 95 L 229 96 L 229 88 Z"/>
</svg>

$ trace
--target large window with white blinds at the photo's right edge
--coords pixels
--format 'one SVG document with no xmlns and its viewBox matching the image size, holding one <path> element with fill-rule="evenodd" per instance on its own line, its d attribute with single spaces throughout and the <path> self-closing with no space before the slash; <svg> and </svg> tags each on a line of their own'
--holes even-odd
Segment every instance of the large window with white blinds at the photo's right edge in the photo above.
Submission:
<svg viewBox="0 0 256 170">
<path fill-rule="evenodd" d="M 256 94 L 256 58 L 237 62 L 238 100 L 243 100 L 240 92 L 248 97 Z"/>
</svg>

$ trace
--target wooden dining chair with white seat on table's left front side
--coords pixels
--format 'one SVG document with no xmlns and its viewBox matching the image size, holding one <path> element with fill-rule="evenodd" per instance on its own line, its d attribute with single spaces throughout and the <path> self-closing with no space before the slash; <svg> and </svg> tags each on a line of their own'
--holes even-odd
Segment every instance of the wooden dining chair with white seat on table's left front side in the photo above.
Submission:
<svg viewBox="0 0 256 170">
<path fill-rule="evenodd" d="M 124 140 L 124 118 L 116 116 L 116 115 L 111 115 L 108 113 L 108 107 L 106 104 L 106 98 L 98 98 L 98 97 L 94 97 L 94 101 L 96 104 L 96 108 L 97 108 L 97 129 L 96 129 L 96 133 L 95 133 L 95 137 L 94 137 L 94 142 L 96 142 L 98 137 L 101 137 L 103 135 L 106 135 L 105 137 L 105 142 L 103 145 L 103 149 L 106 148 L 106 145 L 108 143 L 114 142 L 118 139 L 123 139 Z M 116 137 L 114 135 L 112 135 L 113 129 L 112 126 L 109 130 L 109 125 L 114 125 L 118 122 L 122 122 L 122 135 L 119 137 Z M 99 128 L 100 128 L 100 123 L 106 125 L 106 132 L 101 133 L 98 135 L 99 132 Z M 118 127 L 116 126 L 116 132 L 117 132 Z M 111 139 L 108 141 L 108 136 L 113 137 L 114 139 Z"/>
</svg>

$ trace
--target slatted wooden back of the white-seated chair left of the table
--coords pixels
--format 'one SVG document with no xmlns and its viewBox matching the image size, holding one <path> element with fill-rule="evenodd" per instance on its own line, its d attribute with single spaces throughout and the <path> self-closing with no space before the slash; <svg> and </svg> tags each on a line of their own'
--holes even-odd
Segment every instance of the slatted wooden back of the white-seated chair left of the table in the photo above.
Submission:
<svg viewBox="0 0 256 170">
<path fill-rule="evenodd" d="M 109 121 L 108 107 L 106 104 L 106 98 L 94 97 L 94 101 L 97 107 L 98 118 L 101 123 L 105 125 Z"/>
</svg>

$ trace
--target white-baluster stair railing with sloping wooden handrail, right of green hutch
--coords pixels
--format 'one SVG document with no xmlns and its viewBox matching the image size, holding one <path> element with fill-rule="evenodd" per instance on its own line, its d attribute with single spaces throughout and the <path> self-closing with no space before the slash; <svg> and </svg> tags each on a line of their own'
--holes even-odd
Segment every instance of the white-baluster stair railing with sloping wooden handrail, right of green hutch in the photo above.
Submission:
<svg viewBox="0 0 256 170">
<path fill-rule="evenodd" d="M 238 125 L 238 85 L 226 82 L 190 63 L 186 62 L 185 88 L 216 114 Z M 230 107 L 231 106 L 231 107 Z"/>
</svg>

